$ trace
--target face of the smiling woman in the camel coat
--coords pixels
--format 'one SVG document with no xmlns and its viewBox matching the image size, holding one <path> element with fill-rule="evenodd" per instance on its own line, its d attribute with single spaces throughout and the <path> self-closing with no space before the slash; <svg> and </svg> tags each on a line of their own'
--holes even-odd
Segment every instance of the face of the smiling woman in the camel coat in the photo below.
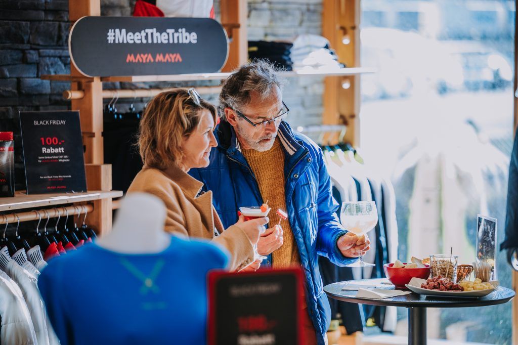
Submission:
<svg viewBox="0 0 518 345">
<path fill-rule="evenodd" d="M 188 137 L 184 137 L 181 149 L 183 160 L 181 166 L 189 171 L 192 168 L 205 168 L 209 165 L 210 149 L 218 146 L 212 133 L 214 120 L 207 109 L 200 110 L 202 117 L 198 127 Z"/>
</svg>

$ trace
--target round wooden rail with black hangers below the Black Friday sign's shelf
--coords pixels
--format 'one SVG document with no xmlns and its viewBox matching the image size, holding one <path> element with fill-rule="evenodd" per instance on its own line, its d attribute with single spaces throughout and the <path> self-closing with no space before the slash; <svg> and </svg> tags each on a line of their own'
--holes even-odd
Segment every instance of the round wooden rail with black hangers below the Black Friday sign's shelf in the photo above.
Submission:
<svg viewBox="0 0 518 345">
<path fill-rule="evenodd" d="M 56 217 L 67 217 L 70 215 L 81 215 L 92 212 L 94 210 L 93 204 L 77 205 L 77 206 L 63 206 L 54 207 L 50 209 L 32 210 L 26 212 L 17 212 L 9 214 L 0 214 L 0 224 L 16 224 L 20 222 L 30 222 L 36 220 L 46 220 Z"/>
</svg>

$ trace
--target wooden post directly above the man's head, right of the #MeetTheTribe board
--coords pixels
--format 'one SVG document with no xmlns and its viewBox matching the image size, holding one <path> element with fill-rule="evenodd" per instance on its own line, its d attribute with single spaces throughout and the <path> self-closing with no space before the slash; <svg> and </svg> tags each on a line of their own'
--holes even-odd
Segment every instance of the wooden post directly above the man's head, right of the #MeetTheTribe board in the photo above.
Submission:
<svg viewBox="0 0 518 345">
<path fill-rule="evenodd" d="M 232 71 L 248 61 L 247 13 L 247 0 L 221 1 L 221 24 L 230 39 L 223 72 Z"/>
</svg>

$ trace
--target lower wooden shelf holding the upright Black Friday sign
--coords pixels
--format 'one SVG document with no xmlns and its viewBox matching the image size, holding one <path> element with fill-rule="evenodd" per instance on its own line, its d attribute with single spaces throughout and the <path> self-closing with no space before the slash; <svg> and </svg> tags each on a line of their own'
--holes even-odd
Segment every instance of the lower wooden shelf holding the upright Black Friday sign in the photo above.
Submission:
<svg viewBox="0 0 518 345">
<path fill-rule="evenodd" d="M 84 193 L 25 194 L 16 192 L 14 197 L 0 198 L 0 211 L 19 210 L 24 208 L 67 205 L 91 200 L 116 198 L 122 196 L 121 191 L 89 191 Z"/>
</svg>

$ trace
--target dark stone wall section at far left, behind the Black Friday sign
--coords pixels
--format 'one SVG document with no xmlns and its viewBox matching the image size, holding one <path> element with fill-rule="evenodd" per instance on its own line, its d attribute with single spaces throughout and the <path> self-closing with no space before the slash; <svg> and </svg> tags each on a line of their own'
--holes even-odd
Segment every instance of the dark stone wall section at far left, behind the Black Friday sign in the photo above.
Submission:
<svg viewBox="0 0 518 345">
<path fill-rule="evenodd" d="M 41 80 L 70 72 L 68 0 L 0 2 L 0 131 L 15 132 L 16 189 L 25 189 L 18 111 L 67 110 L 69 83 Z"/>
</svg>

